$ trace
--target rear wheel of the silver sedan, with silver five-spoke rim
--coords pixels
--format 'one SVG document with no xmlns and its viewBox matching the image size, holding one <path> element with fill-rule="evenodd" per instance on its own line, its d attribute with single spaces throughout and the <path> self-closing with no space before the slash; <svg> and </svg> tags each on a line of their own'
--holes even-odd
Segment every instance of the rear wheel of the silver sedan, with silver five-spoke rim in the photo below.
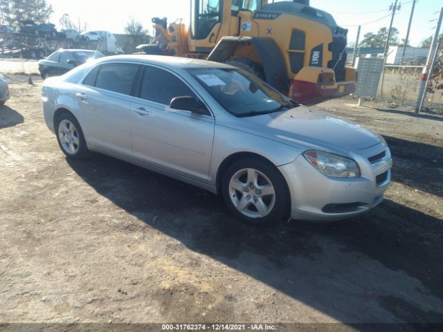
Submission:
<svg viewBox="0 0 443 332">
<path fill-rule="evenodd" d="M 58 145 L 68 158 L 84 159 L 89 156 L 82 128 L 71 113 L 60 114 L 55 129 Z"/>
</svg>

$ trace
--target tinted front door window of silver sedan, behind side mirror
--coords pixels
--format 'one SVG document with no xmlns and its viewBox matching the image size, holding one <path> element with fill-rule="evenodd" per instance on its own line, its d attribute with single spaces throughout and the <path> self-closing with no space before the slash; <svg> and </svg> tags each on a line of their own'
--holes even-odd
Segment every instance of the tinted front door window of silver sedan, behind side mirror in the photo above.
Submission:
<svg viewBox="0 0 443 332">
<path fill-rule="evenodd" d="M 197 99 L 186 84 L 163 69 L 146 66 L 140 97 L 152 102 L 169 105 L 175 97 L 189 95 Z"/>
</svg>

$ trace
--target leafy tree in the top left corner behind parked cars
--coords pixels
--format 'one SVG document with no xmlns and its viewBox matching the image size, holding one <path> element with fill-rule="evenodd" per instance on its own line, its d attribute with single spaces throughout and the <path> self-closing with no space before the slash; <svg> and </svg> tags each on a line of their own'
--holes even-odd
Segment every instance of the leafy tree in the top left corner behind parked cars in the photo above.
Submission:
<svg viewBox="0 0 443 332">
<path fill-rule="evenodd" d="M 46 0 L 0 0 L 0 21 L 15 28 L 23 20 L 45 22 L 53 12 Z"/>
</svg>

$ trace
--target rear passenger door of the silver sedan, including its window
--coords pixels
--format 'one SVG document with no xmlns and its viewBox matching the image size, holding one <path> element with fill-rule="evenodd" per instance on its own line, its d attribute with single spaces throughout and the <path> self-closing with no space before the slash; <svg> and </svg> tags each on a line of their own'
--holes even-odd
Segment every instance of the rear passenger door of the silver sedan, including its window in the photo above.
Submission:
<svg viewBox="0 0 443 332">
<path fill-rule="evenodd" d="M 89 144 L 132 156 L 130 106 L 139 68 L 128 62 L 101 64 L 84 80 L 76 97 Z"/>
</svg>

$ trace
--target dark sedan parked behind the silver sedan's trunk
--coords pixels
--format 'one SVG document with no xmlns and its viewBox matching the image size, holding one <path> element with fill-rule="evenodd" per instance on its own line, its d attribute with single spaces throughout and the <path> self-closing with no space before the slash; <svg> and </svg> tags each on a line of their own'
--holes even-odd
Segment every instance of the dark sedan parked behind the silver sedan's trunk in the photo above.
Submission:
<svg viewBox="0 0 443 332">
<path fill-rule="evenodd" d="M 58 76 L 71 71 L 72 68 L 84 64 L 90 59 L 104 57 L 94 50 L 56 50 L 54 53 L 38 62 L 40 75 L 45 79 L 49 76 Z"/>
</svg>

